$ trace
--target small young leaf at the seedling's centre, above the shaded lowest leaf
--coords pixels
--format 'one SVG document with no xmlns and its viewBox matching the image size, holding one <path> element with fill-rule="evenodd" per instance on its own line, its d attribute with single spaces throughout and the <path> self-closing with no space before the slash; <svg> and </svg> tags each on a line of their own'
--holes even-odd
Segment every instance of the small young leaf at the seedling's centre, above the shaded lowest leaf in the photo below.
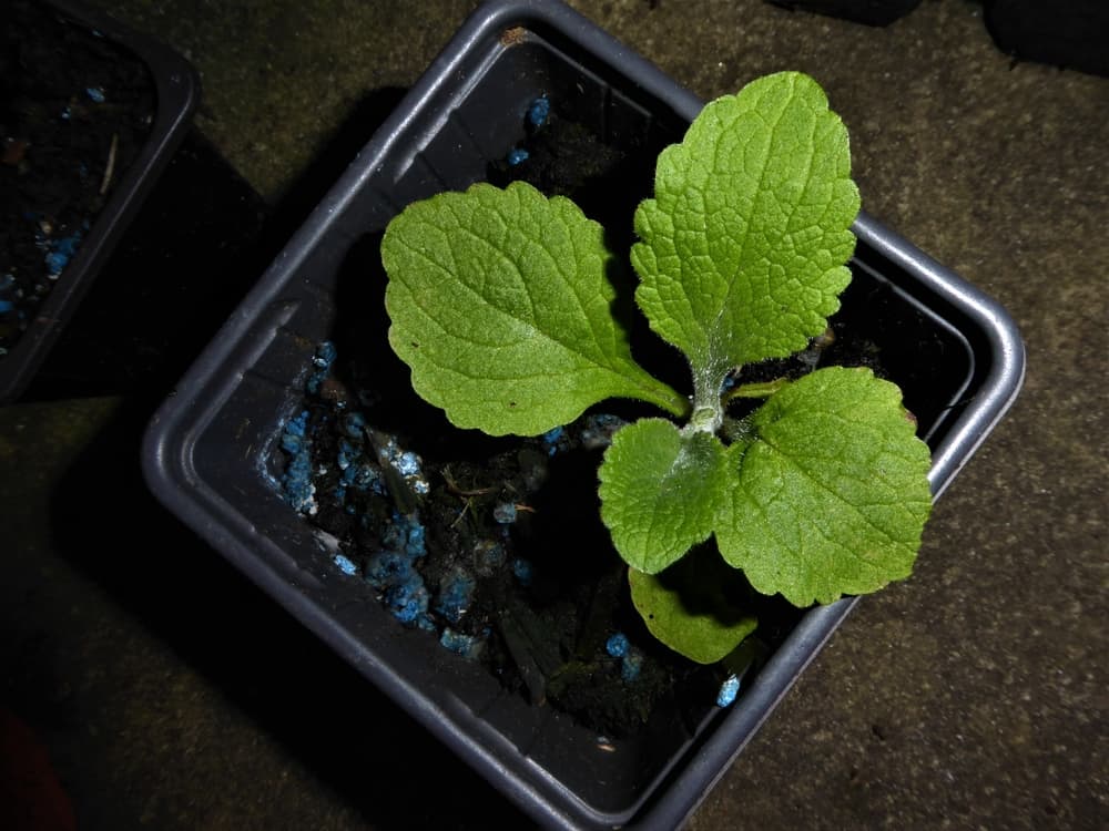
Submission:
<svg viewBox="0 0 1109 831">
<path fill-rule="evenodd" d="M 601 519 L 624 562 L 661 572 L 712 533 L 724 495 L 724 445 L 641 419 L 612 437 L 601 463 Z"/>
</svg>

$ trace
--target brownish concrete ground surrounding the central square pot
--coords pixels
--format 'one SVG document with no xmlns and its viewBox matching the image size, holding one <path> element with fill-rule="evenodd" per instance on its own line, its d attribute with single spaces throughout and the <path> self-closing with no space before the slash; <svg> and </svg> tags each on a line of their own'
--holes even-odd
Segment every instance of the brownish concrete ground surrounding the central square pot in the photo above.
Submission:
<svg viewBox="0 0 1109 831">
<path fill-rule="evenodd" d="M 95 4 L 194 62 L 199 130 L 278 205 L 475 3 Z M 705 98 L 814 75 L 864 207 L 999 299 L 1028 348 L 916 574 L 859 605 L 690 828 L 1109 828 L 1109 79 L 1015 62 L 965 0 L 887 29 L 756 0 L 573 6 Z M 526 828 L 159 513 L 132 470 L 140 398 L 0 408 L 0 700 L 79 827 Z"/>
</svg>

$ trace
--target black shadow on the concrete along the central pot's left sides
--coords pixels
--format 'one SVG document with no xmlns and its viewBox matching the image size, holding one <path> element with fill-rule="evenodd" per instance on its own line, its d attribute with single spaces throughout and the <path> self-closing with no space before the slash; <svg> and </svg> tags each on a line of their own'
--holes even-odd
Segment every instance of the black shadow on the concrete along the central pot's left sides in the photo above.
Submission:
<svg viewBox="0 0 1109 831">
<path fill-rule="evenodd" d="M 32 390 L 32 398 L 124 397 L 57 490 L 53 548 L 139 618 L 167 660 L 183 660 L 231 704 L 221 716 L 222 704 L 202 702 L 196 718 L 248 719 L 374 827 L 526 828 L 527 820 L 484 780 L 164 511 L 139 468 L 154 408 L 403 93 L 370 93 L 272 211 L 237 177 L 227 178 L 230 168 L 200 136 L 191 137 L 186 153 L 197 158 L 179 161 L 177 172 L 160 185 L 144 220 L 121 246 L 112 278 L 90 296 L 69 343 Z M 228 201 L 233 209 L 216 216 Z M 156 284 L 144 265 L 152 252 L 160 264 Z M 135 293 L 138 306 L 125 301 Z M 103 337 L 109 334 L 114 337 Z M 28 671 L 34 676 L 33 668 Z M 156 687 L 125 678 L 120 684 Z M 113 695 L 111 685 L 98 690 L 91 695 Z M 126 706 L 155 704 L 163 701 Z M 195 710 L 197 704 L 181 707 Z M 84 749 L 82 765 L 94 769 L 98 760 L 88 757 L 95 743 Z M 195 763 L 197 773 L 210 776 L 203 765 Z M 150 774 L 150 792 L 164 787 L 153 779 L 156 771 Z M 245 794 L 257 784 L 226 781 L 221 789 L 227 799 L 243 794 L 246 801 L 256 798 Z M 113 815 L 132 809 L 113 808 L 112 794 L 91 798 L 103 802 L 93 814 L 116 828 L 134 819 Z M 323 806 L 327 798 L 319 799 Z"/>
</svg>

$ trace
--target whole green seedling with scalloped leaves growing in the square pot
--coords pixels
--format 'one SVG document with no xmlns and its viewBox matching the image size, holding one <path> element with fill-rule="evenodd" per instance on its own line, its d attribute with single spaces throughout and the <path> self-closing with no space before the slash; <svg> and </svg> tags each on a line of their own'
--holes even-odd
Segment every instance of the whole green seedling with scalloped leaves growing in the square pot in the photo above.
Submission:
<svg viewBox="0 0 1109 831">
<path fill-rule="evenodd" d="M 755 625 L 721 563 L 808 606 L 908 576 L 919 548 L 930 460 L 896 386 L 844 367 L 729 386 L 826 330 L 858 208 L 823 90 L 769 75 L 704 107 L 635 211 L 635 300 L 688 359 L 692 397 L 632 357 L 600 225 L 520 182 L 440 194 L 389 224 L 389 342 L 461 428 L 538 435 L 612 397 L 664 411 L 613 437 L 601 516 L 651 632 L 712 663 Z M 694 567 L 711 538 L 715 560 Z"/>
</svg>

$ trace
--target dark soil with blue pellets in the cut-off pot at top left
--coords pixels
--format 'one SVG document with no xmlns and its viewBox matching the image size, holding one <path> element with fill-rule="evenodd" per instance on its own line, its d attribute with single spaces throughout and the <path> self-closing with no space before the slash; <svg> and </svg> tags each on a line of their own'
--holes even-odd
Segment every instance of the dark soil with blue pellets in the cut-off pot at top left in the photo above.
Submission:
<svg viewBox="0 0 1109 831">
<path fill-rule="evenodd" d="M 0 27 L 0 359 L 138 157 L 155 112 L 143 64 L 49 7 Z"/>
</svg>

